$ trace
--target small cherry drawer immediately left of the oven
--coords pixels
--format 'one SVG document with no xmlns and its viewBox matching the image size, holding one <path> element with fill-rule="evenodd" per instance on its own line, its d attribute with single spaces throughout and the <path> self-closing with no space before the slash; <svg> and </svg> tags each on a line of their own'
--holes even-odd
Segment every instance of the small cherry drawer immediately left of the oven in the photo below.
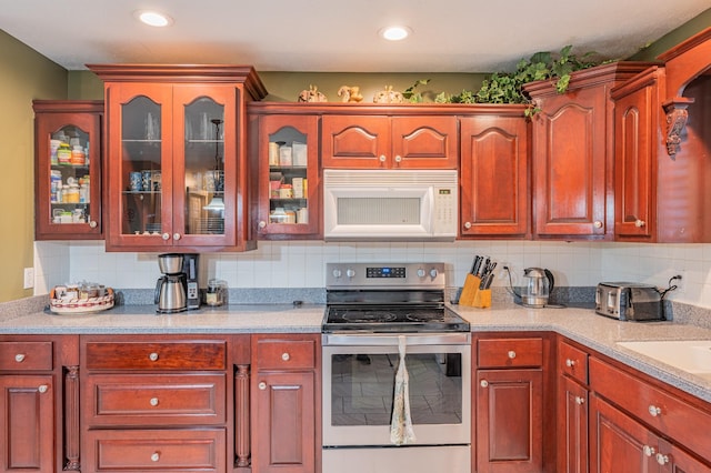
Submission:
<svg viewBox="0 0 711 473">
<path fill-rule="evenodd" d="M 257 341 L 258 370 L 304 370 L 316 368 L 314 340 Z"/>
</svg>

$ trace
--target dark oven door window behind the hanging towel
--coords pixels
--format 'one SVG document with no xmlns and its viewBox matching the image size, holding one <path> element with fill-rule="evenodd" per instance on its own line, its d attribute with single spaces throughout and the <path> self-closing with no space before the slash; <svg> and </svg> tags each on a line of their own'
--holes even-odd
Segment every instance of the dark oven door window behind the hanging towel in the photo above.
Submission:
<svg viewBox="0 0 711 473">
<path fill-rule="evenodd" d="M 461 353 L 405 355 L 413 424 L 462 423 Z M 389 425 L 397 353 L 331 355 L 331 424 Z"/>
</svg>

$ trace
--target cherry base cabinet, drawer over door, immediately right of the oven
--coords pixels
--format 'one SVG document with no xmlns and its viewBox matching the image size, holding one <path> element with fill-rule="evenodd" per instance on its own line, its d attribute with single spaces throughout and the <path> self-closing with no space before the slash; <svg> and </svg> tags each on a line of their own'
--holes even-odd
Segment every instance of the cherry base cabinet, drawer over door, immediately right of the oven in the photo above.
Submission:
<svg viewBox="0 0 711 473">
<path fill-rule="evenodd" d="M 477 341 L 472 450 L 478 472 L 541 472 L 549 464 L 543 449 L 545 432 L 553 432 L 544 399 L 549 350 L 549 341 L 539 336 Z"/>
</svg>

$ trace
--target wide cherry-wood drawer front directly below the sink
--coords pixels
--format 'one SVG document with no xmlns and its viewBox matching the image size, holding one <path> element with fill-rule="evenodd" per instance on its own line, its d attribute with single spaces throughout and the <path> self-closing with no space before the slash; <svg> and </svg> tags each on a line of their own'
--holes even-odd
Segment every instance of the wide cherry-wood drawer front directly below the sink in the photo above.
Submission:
<svg viewBox="0 0 711 473">
<path fill-rule="evenodd" d="M 590 359 L 590 388 L 677 443 L 711 459 L 708 403 L 701 410 L 597 359 Z"/>
</svg>

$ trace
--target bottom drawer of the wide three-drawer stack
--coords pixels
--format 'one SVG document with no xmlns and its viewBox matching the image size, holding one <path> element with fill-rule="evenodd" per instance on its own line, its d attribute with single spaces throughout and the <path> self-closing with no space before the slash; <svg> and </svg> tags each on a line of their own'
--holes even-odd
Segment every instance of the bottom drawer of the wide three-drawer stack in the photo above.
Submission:
<svg viewBox="0 0 711 473">
<path fill-rule="evenodd" d="M 89 431 L 87 439 L 82 471 L 227 471 L 222 429 Z"/>
</svg>

